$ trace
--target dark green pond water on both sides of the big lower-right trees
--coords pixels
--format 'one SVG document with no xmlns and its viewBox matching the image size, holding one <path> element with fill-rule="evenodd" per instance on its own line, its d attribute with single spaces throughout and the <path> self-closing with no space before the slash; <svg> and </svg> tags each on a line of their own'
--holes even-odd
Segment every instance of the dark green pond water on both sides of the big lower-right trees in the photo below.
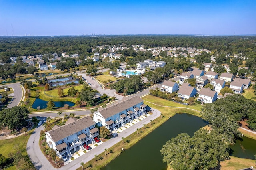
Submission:
<svg viewBox="0 0 256 170">
<path fill-rule="evenodd" d="M 207 123 L 200 117 L 190 114 L 176 114 L 130 149 L 122 152 L 102 170 L 166 170 L 167 165 L 162 161 L 163 156 L 160 153 L 162 146 L 180 133 L 193 136 L 194 132 L 205 125 Z M 232 156 L 255 159 L 255 146 L 256 140 L 244 136 L 243 141 L 238 140 L 231 147 L 233 149 Z"/>
</svg>

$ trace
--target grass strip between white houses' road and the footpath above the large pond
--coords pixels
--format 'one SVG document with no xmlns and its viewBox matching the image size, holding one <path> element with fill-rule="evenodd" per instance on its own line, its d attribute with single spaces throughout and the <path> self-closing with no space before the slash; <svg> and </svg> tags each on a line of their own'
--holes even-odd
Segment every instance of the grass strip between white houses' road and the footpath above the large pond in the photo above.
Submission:
<svg viewBox="0 0 256 170">
<path fill-rule="evenodd" d="M 142 99 L 144 101 L 155 103 L 156 105 L 160 105 L 160 106 L 185 107 L 185 108 L 195 109 L 197 111 L 201 111 L 201 108 L 202 108 L 202 105 L 197 104 L 197 103 L 194 103 L 192 106 L 190 106 L 190 105 L 186 106 L 186 105 L 182 105 L 180 103 L 176 103 L 176 102 L 162 99 L 160 97 L 156 97 L 156 96 L 152 96 L 152 95 L 146 95 L 146 96 L 142 97 Z"/>
</svg>

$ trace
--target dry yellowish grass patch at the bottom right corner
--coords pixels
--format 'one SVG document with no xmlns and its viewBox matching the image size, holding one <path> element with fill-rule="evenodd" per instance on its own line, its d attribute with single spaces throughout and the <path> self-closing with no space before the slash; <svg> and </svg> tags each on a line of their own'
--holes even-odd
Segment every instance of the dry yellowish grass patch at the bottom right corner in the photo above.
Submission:
<svg viewBox="0 0 256 170">
<path fill-rule="evenodd" d="M 225 160 L 224 162 L 220 163 L 220 166 L 221 166 L 220 169 L 221 170 L 238 170 L 243 168 L 249 168 L 255 165 L 256 165 L 255 160 L 230 156 L 230 160 Z"/>
</svg>

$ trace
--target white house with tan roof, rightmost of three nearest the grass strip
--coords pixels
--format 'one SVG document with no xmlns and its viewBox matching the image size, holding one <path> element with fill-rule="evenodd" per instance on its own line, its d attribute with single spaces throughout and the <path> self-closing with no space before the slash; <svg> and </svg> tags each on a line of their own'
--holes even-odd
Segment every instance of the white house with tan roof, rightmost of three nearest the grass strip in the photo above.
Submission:
<svg viewBox="0 0 256 170">
<path fill-rule="evenodd" d="M 212 103 L 217 100 L 217 92 L 212 91 L 210 89 L 202 88 L 199 91 L 199 97 L 197 98 L 197 101 L 200 101 L 201 103 Z"/>
</svg>

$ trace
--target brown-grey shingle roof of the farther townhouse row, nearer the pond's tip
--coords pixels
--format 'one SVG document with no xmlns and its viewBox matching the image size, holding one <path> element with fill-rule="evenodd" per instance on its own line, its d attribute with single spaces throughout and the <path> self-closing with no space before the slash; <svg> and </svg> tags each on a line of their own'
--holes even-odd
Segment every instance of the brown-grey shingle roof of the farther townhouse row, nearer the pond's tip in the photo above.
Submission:
<svg viewBox="0 0 256 170">
<path fill-rule="evenodd" d="M 134 96 L 129 99 L 124 97 L 120 103 L 117 103 L 111 107 L 107 107 L 99 112 L 105 119 L 107 119 L 108 117 L 116 115 L 116 113 L 124 111 L 140 102 L 143 102 L 143 100 L 139 96 Z"/>
</svg>

